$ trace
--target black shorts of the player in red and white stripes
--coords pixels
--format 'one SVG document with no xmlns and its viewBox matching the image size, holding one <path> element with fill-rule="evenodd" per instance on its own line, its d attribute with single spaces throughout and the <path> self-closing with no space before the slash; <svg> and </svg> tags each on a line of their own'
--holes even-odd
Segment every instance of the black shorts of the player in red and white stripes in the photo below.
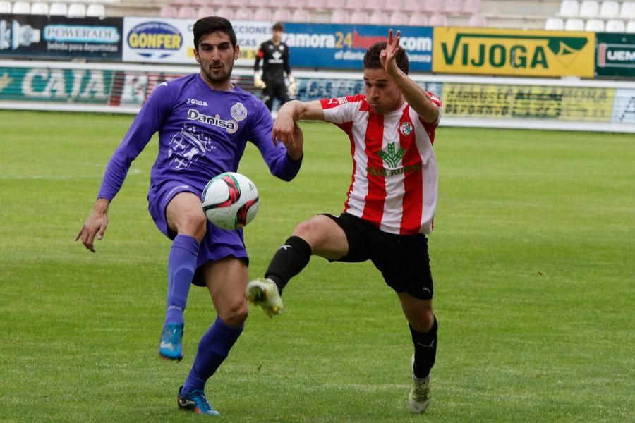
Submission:
<svg viewBox="0 0 635 423">
<path fill-rule="evenodd" d="M 396 235 L 351 214 L 324 216 L 333 219 L 344 230 L 349 253 L 334 262 L 371 260 L 382 272 L 384 281 L 396 293 L 409 293 L 420 300 L 433 298 L 433 280 L 428 257 L 428 238 L 418 235 Z"/>
</svg>

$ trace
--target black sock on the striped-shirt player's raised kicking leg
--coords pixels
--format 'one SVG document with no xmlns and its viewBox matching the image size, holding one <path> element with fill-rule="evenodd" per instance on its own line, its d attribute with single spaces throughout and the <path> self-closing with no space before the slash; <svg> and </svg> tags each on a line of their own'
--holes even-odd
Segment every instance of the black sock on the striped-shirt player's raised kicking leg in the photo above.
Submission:
<svg viewBox="0 0 635 423">
<path fill-rule="evenodd" d="M 289 279 L 300 273 L 310 258 L 311 246 L 302 238 L 291 236 L 274 254 L 265 278 L 274 281 L 282 295 L 282 289 L 289 283 Z"/>
</svg>

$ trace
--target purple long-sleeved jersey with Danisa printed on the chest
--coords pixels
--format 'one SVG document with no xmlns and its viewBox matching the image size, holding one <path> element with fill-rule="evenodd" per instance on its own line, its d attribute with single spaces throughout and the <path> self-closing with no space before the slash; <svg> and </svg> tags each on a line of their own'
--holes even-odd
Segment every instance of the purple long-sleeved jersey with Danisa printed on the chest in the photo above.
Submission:
<svg viewBox="0 0 635 423">
<path fill-rule="evenodd" d="M 291 161 L 282 143 L 272 143 L 272 125 L 265 104 L 239 87 L 212 90 L 198 73 L 163 82 L 112 155 L 97 197 L 113 199 L 132 161 L 157 131 L 159 155 L 150 173 L 150 190 L 176 181 L 202 192 L 212 177 L 238 169 L 248 140 L 275 176 L 291 180 L 301 160 Z"/>
</svg>

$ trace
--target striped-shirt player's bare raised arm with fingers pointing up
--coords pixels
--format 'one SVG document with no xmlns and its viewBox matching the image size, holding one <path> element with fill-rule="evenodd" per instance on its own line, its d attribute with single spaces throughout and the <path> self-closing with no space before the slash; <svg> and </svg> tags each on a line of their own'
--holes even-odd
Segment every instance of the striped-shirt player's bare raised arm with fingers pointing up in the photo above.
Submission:
<svg viewBox="0 0 635 423">
<path fill-rule="evenodd" d="M 388 41 L 386 49 L 380 54 L 380 61 L 384 66 L 386 73 L 397 83 L 399 90 L 404 94 L 406 102 L 417 112 L 424 121 L 435 123 L 439 118 L 439 106 L 430 100 L 428 93 L 411 80 L 411 78 L 397 67 L 395 61 L 397 52 L 399 51 L 399 39 L 401 32 L 393 34 L 392 30 L 388 31 Z"/>
</svg>

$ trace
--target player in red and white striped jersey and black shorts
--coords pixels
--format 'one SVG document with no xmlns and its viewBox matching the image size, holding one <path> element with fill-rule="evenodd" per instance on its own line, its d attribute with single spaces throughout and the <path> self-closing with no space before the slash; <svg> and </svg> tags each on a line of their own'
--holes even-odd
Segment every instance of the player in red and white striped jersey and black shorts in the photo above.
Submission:
<svg viewBox="0 0 635 423">
<path fill-rule="evenodd" d="M 250 281 L 247 298 L 268 315 L 282 312 L 279 296 L 311 255 L 336 262 L 370 259 L 398 295 L 409 322 L 414 355 L 412 412 L 430 402 L 430 369 L 437 350 L 426 233 L 437 204 L 433 152 L 441 102 L 408 76 L 400 33 L 374 44 L 364 57 L 366 94 L 288 102 L 278 112 L 272 137 L 295 147 L 297 121 L 327 121 L 351 141 L 353 176 L 344 212 L 320 214 L 300 223 L 275 253 L 265 278 Z"/>
</svg>

